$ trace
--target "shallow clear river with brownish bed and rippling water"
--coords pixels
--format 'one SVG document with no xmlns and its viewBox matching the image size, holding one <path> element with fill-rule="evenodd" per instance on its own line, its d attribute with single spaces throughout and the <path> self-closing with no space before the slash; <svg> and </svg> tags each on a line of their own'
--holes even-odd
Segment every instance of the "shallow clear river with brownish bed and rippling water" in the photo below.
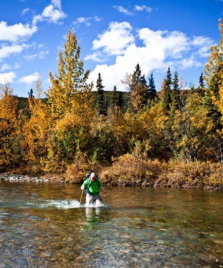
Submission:
<svg viewBox="0 0 223 268">
<path fill-rule="evenodd" d="M 0 268 L 223 267 L 223 193 L 0 182 Z M 85 201 L 85 197 L 83 197 Z"/>
</svg>

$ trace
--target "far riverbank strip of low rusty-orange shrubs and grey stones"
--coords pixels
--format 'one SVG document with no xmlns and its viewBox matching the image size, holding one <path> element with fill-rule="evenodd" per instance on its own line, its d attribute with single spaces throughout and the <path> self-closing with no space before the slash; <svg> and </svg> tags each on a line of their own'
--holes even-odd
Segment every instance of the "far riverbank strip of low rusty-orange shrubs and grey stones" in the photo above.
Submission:
<svg viewBox="0 0 223 268">
<path fill-rule="evenodd" d="M 97 166 L 107 186 L 171 187 L 223 191 L 223 168 L 218 163 L 144 160 L 130 154 L 118 158 L 109 167 Z M 81 184 L 89 170 L 72 164 L 63 174 L 29 176 L 16 172 L 0 174 L 0 180 L 33 183 Z"/>
</svg>

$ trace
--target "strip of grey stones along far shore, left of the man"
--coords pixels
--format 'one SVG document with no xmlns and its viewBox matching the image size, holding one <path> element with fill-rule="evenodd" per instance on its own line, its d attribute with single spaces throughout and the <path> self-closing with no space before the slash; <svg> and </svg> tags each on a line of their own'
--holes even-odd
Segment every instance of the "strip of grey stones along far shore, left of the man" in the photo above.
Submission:
<svg viewBox="0 0 223 268">
<path fill-rule="evenodd" d="M 32 182 L 32 183 L 64 183 L 65 181 L 56 176 L 37 176 L 31 177 L 27 175 L 18 175 L 18 174 L 0 174 L 0 181 L 7 182 Z"/>
</svg>

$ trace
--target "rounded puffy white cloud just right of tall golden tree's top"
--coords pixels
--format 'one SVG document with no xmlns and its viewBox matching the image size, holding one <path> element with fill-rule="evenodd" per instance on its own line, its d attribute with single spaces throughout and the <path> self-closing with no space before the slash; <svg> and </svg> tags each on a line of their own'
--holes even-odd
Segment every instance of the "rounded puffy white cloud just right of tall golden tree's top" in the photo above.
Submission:
<svg viewBox="0 0 223 268">
<path fill-rule="evenodd" d="M 131 30 L 132 26 L 126 21 L 111 22 L 109 29 L 93 41 L 93 50 L 103 48 L 103 52 L 111 56 L 123 54 L 124 49 L 135 40 Z"/>
</svg>

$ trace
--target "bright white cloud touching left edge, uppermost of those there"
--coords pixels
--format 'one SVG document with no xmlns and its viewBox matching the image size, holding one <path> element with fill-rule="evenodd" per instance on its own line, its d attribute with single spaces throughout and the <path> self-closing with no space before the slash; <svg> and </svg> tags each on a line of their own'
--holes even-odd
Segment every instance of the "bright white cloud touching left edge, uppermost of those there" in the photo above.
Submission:
<svg viewBox="0 0 223 268">
<path fill-rule="evenodd" d="M 22 38 L 29 38 L 37 31 L 37 27 L 29 24 L 23 25 L 17 23 L 14 25 L 7 25 L 7 22 L 0 22 L 0 41 L 16 42 Z"/>
</svg>

